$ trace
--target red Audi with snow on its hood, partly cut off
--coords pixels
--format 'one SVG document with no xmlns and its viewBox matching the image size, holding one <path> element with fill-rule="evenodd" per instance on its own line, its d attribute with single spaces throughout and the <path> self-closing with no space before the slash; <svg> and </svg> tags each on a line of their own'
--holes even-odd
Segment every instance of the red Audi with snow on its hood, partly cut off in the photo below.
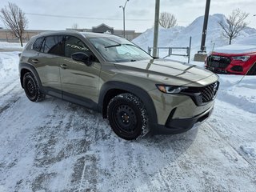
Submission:
<svg viewBox="0 0 256 192">
<path fill-rule="evenodd" d="M 205 67 L 217 74 L 256 75 L 256 51 L 242 54 L 212 52 L 206 58 Z"/>
</svg>

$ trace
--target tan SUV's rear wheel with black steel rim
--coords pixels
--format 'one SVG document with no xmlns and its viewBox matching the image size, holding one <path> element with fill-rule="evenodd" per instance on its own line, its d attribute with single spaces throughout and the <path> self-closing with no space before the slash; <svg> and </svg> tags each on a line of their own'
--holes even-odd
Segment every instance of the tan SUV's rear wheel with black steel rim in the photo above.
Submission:
<svg viewBox="0 0 256 192">
<path fill-rule="evenodd" d="M 23 88 L 26 93 L 26 97 L 32 102 L 40 102 L 45 98 L 45 94 L 39 89 L 37 80 L 34 78 L 34 74 L 26 72 L 23 76 Z"/>
</svg>

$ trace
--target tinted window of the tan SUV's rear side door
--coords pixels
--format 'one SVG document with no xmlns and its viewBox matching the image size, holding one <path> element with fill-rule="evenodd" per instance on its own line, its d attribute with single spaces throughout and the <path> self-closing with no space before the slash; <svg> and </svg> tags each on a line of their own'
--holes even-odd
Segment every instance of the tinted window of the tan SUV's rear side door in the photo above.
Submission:
<svg viewBox="0 0 256 192">
<path fill-rule="evenodd" d="M 42 44 L 42 52 L 46 54 L 63 55 L 64 41 L 63 36 L 49 36 Z"/>
</svg>

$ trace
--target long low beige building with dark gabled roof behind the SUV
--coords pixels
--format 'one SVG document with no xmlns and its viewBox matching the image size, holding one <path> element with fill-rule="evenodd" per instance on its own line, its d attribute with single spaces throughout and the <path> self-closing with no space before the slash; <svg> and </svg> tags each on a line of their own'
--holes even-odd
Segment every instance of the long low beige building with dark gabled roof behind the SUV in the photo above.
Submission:
<svg viewBox="0 0 256 192">
<path fill-rule="evenodd" d="M 66 30 L 78 30 L 84 32 L 94 32 L 94 33 L 107 33 L 114 34 L 123 37 L 123 30 L 114 30 L 113 27 L 107 26 L 102 23 L 99 26 L 93 26 L 91 29 L 66 29 Z M 24 34 L 24 42 L 27 42 L 34 35 L 40 34 L 46 30 L 26 30 Z M 126 30 L 126 39 L 133 40 L 137 38 L 141 33 L 136 33 L 135 30 Z M 11 33 L 10 30 L 5 30 L 0 28 L 0 42 L 19 42 L 19 39 Z"/>
</svg>

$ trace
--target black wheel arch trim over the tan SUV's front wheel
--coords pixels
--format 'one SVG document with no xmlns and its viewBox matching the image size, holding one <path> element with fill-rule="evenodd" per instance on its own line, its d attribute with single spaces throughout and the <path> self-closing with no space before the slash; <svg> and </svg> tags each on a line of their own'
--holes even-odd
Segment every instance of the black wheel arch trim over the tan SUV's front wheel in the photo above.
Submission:
<svg viewBox="0 0 256 192">
<path fill-rule="evenodd" d="M 121 90 L 122 92 L 134 94 L 135 96 L 140 98 L 143 104 L 146 106 L 146 110 L 149 116 L 149 124 L 153 125 L 158 123 L 154 102 L 152 101 L 152 98 L 150 98 L 150 95 L 146 92 L 146 90 L 142 90 L 141 87 L 134 86 L 126 82 L 117 81 L 106 82 L 105 84 L 103 84 L 100 90 L 98 98 L 98 111 L 102 112 L 103 118 L 106 118 L 106 103 L 104 103 L 104 99 L 106 94 L 110 90 Z"/>
</svg>

